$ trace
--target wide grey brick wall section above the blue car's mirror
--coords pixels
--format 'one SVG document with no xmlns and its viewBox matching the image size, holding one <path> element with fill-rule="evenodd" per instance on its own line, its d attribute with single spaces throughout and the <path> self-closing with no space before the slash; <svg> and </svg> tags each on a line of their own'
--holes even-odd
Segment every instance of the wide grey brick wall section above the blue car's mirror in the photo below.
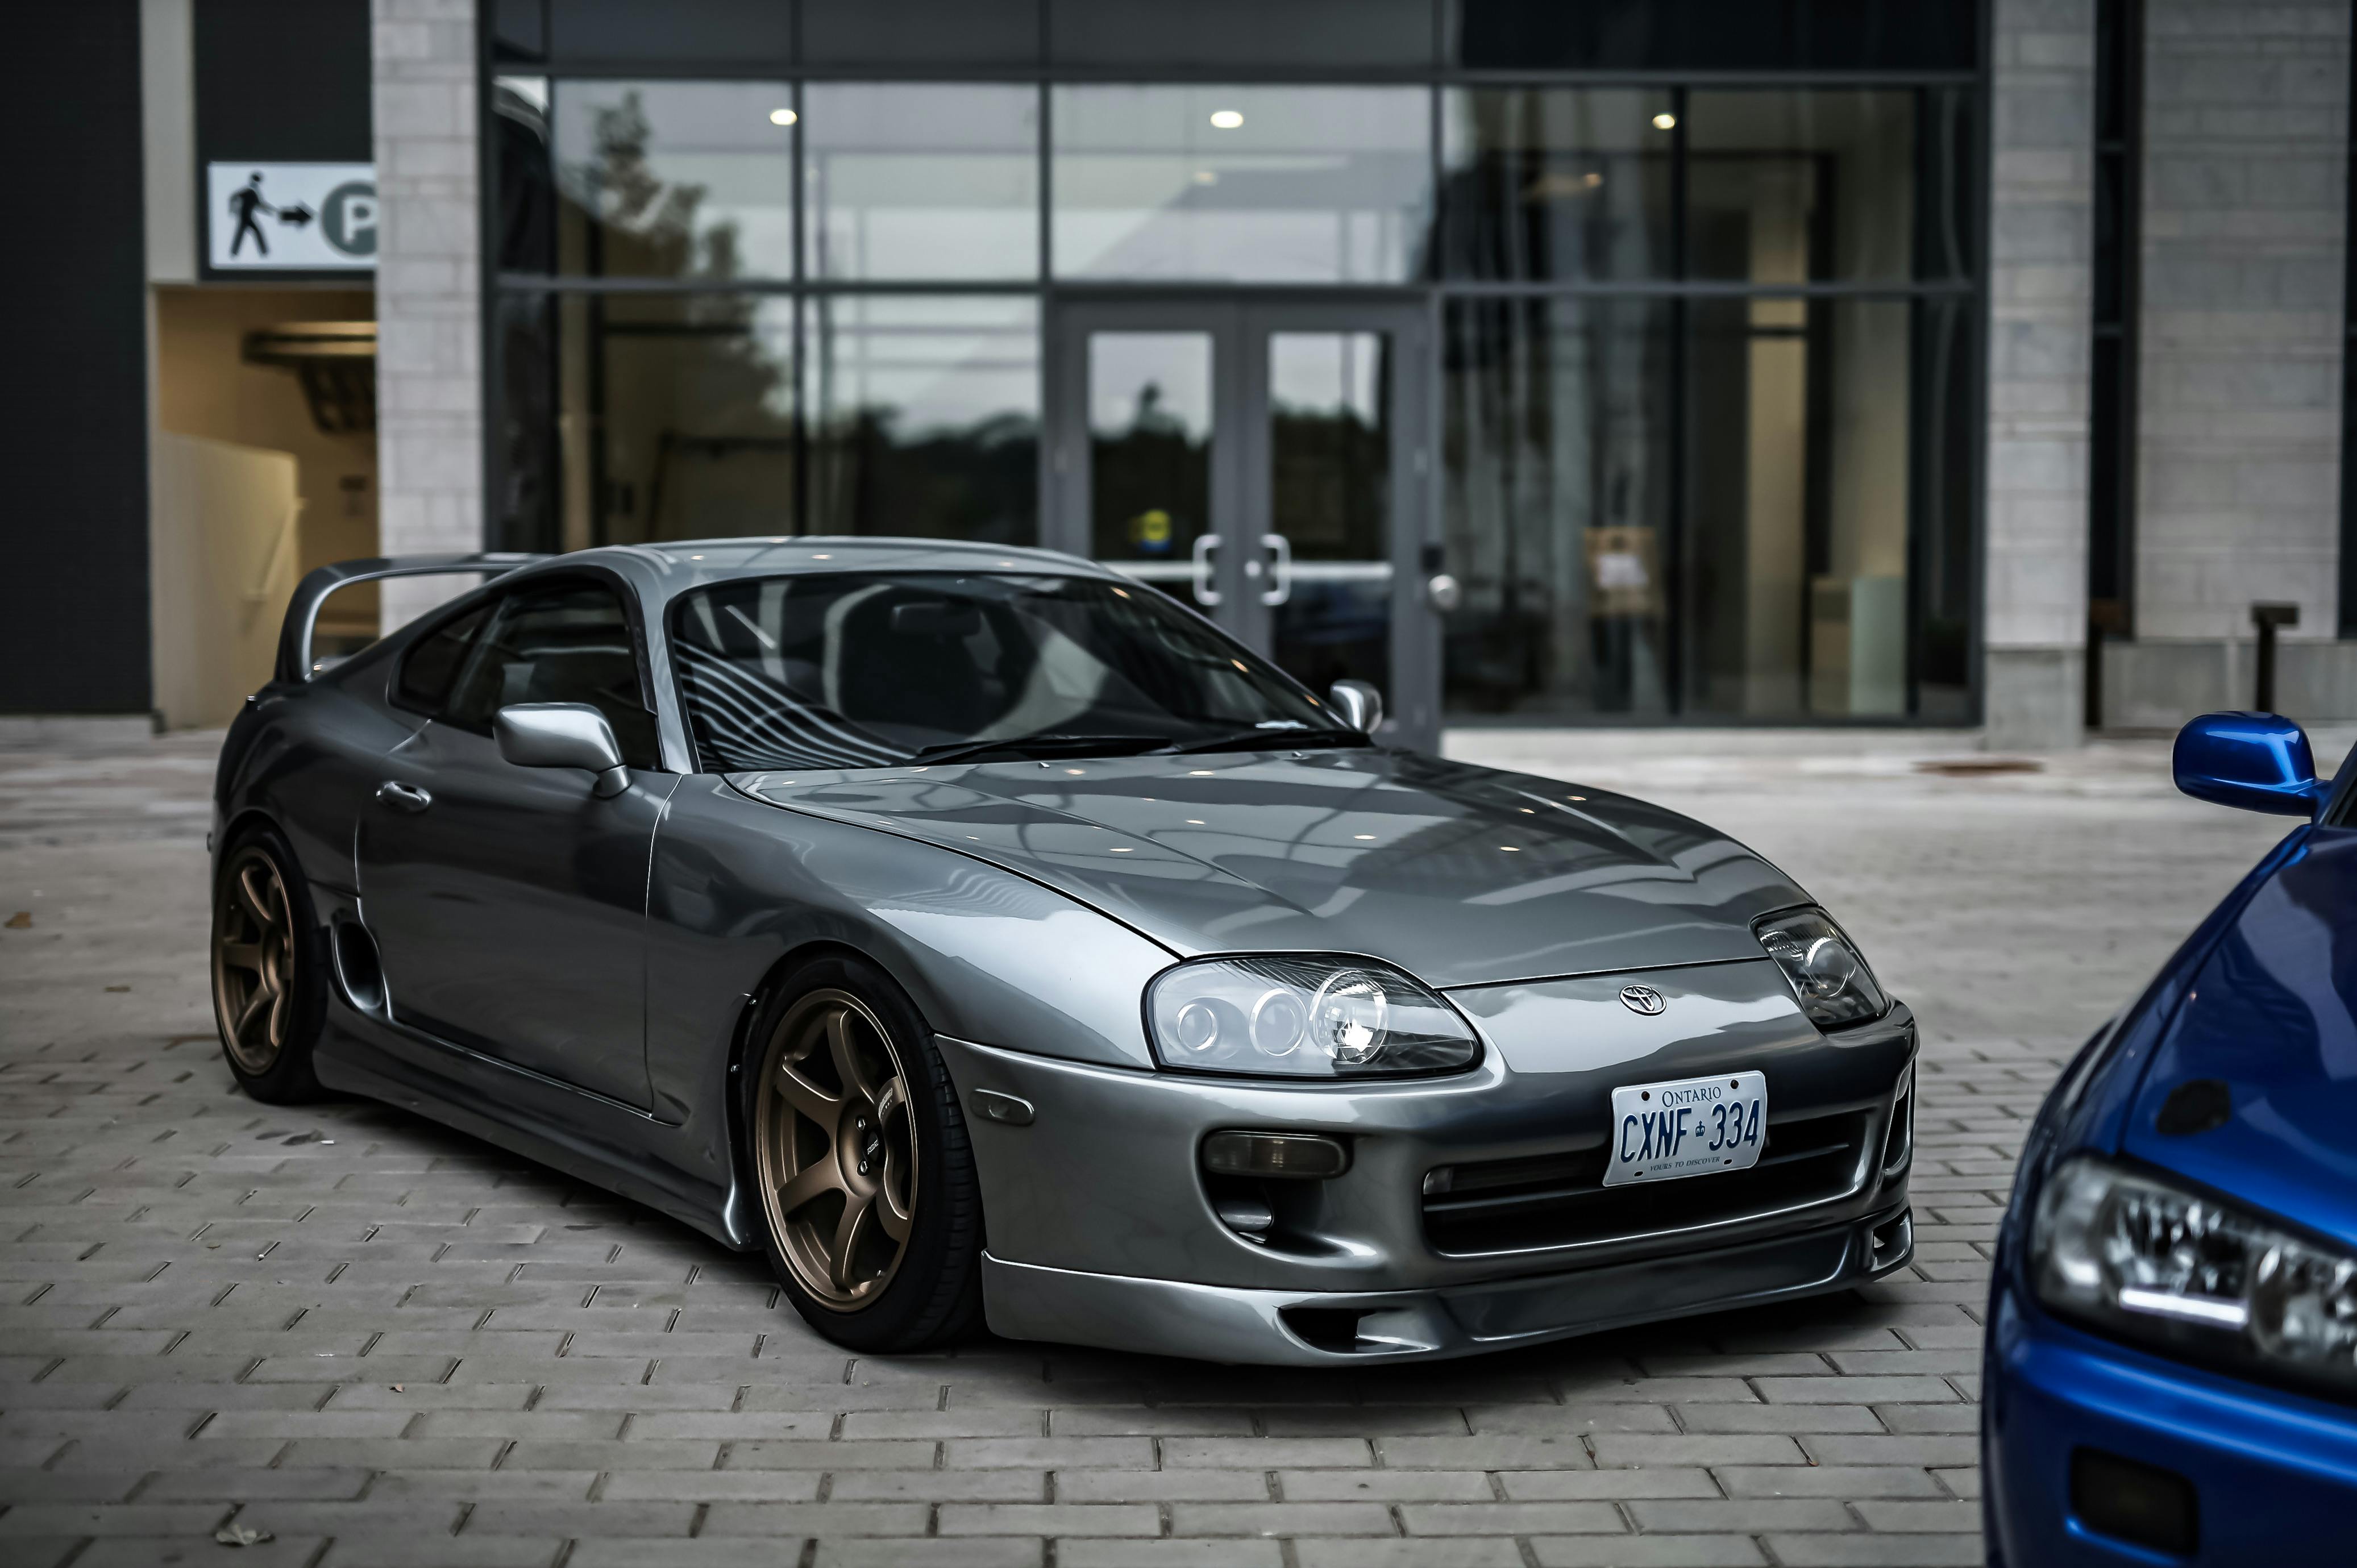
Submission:
<svg viewBox="0 0 2357 1568">
<path fill-rule="evenodd" d="M 2350 5 L 2150 0 L 2145 42 L 2135 637 L 2246 641 L 2277 599 L 2329 639 Z"/>
</svg>

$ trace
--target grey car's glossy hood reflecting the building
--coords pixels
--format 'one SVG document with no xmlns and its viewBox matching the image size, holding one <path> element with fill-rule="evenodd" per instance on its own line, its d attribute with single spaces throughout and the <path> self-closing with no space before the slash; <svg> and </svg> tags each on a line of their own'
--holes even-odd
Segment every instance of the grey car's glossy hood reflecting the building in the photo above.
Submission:
<svg viewBox="0 0 2357 1568">
<path fill-rule="evenodd" d="M 1673 811 L 1409 752 L 1221 752 L 738 773 L 754 799 L 929 839 L 1174 953 L 1362 953 L 1431 986 L 1758 957 L 1801 903 Z"/>
</svg>

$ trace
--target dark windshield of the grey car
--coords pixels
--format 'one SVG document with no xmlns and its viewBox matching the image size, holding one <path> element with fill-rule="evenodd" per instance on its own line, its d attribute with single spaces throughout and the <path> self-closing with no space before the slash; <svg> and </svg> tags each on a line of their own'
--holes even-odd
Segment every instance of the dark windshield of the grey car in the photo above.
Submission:
<svg viewBox="0 0 2357 1568">
<path fill-rule="evenodd" d="M 1101 578 L 747 578 L 674 615 L 688 726 L 719 773 L 1365 745 L 1160 592 Z"/>
</svg>

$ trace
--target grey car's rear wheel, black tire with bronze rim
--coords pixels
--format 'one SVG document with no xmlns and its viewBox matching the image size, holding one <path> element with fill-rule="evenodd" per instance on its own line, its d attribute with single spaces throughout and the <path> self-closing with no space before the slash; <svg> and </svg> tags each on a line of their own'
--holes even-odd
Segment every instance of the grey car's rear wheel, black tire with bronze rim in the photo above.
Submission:
<svg viewBox="0 0 2357 1568">
<path fill-rule="evenodd" d="M 238 1087 L 269 1106 L 321 1099 L 311 1054 L 328 1019 L 328 938 L 295 851 L 240 832 L 212 879 L 212 1023 Z"/>
</svg>

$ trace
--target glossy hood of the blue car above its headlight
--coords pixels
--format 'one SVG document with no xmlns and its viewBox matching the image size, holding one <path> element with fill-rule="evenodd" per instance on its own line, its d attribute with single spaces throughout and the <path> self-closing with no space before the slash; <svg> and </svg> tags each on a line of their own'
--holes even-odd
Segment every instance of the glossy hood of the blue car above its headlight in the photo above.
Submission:
<svg viewBox="0 0 2357 1568">
<path fill-rule="evenodd" d="M 2216 1078 L 2232 1113 L 2164 1134 Z M 2319 828 L 2244 905 L 2135 1092 L 2126 1153 L 2357 1247 L 2357 830 Z"/>
</svg>

